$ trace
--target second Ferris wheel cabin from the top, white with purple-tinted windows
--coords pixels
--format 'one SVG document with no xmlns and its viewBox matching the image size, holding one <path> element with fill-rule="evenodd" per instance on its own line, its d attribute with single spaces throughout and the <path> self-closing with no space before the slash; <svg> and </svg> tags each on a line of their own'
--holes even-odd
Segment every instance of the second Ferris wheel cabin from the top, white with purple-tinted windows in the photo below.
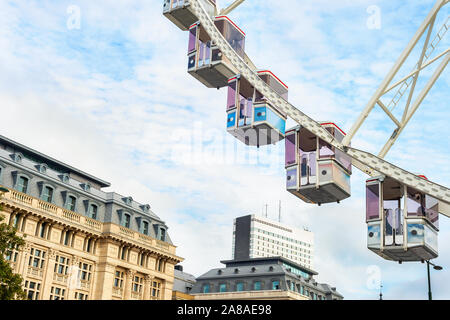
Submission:
<svg viewBox="0 0 450 320">
<path fill-rule="evenodd" d="M 214 19 L 214 24 L 238 55 L 245 56 L 245 33 L 228 17 Z M 200 23 L 189 28 L 188 72 L 208 88 L 222 88 L 237 70 L 214 45 Z"/>
</svg>

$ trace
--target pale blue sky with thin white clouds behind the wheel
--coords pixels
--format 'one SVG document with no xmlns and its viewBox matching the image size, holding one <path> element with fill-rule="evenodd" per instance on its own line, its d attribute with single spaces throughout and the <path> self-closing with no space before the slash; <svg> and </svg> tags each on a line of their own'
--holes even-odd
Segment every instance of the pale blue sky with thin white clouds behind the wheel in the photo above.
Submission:
<svg viewBox="0 0 450 320">
<path fill-rule="evenodd" d="M 348 131 L 433 4 L 247 0 L 230 17 L 247 34 L 247 54 L 289 86 L 297 108 Z M 71 6 L 79 29 L 68 28 Z M 370 6 L 381 10 L 380 29 L 367 27 Z M 276 218 L 281 200 L 283 222 L 315 233 L 319 281 L 347 299 L 376 299 L 375 266 L 386 299 L 427 298 L 425 265 L 367 250 L 366 176 L 355 170 L 352 197 L 340 205 L 312 207 L 284 189 L 282 145 L 249 150 L 226 134 L 226 92 L 187 74 L 187 34 L 163 17 L 162 1 L 2 1 L 0 48 L 0 134 L 150 202 L 187 272 L 220 266 L 231 257 L 233 219 L 265 204 Z M 447 186 L 449 81 L 446 70 L 386 157 Z M 392 129 L 376 110 L 353 145 L 377 153 Z M 450 298 L 449 242 L 442 217 L 436 299 Z"/>
</svg>

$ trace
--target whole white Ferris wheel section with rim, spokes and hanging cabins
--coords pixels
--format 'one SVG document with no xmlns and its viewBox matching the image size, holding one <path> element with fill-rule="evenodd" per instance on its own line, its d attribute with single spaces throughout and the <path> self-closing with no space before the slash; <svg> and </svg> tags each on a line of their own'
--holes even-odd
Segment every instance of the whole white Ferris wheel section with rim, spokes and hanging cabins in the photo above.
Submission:
<svg viewBox="0 0 450 320">
<path fill-rule="evenodd" d="M 227 131 L 253 147 L 284 141 L 286 189 L 307 203 L 322 205 L 350 197 L 352 166 L 363 171 L 370 176 L 366 182 L 368 249 L 400 263 L 436 258 L 439 214 L 450 217 L 450 189 L 384 157 L 450 61 L 450 48 L 435 52 L 450 28 L 450 16 L 441 26 L 435 25 L 436 18 L 450 0 L 436 1 L 347 134 L 332 121 L 308 117 L 288 102 L 288 86 L 282 80 L 268 69 L 256 68 L 245 53 L 246 34 L 227 17 L 244 1 L 236 0 L 224 9 L 215 0 L 164 0 L 163 4 L 163 14 L 188 31 L 189 74 L 208 88 L 227 88 Z M 415 48 L 420 56 L 413 70 L 394 82 Z M 434 72 L 415 96 L 419 78 L 426 77 L 423 70 L 432 68 Z M 351 146 L 376 106 L 396 127 L 378 155 Z M 395 109 L 401 111 L 401 119 Z M 287 118 L 298 125 L 286 129 Z"/>
</svg>

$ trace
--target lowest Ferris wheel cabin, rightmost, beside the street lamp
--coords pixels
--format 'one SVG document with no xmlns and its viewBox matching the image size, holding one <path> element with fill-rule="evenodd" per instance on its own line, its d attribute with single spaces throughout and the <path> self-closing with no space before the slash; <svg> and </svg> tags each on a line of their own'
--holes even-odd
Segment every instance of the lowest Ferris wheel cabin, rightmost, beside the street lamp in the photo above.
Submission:
<svg viewBox="0 0 450 320">
<path fill-rule="evenodd" d="M 367 247 L 386 260 L 438 256 L 439 201 L 423 192 L 389 177 L 367 180 L 366 221 Z"/>
</svg>

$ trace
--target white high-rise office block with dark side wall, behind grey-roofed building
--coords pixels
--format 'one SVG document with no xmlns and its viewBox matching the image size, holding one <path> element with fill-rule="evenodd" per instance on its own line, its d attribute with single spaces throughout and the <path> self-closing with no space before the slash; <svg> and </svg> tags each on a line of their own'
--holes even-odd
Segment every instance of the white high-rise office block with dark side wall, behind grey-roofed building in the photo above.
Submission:
<svg viewBox="0 0 450 320">
<path fill-rule="evenodd" d="M 284 257 L 305 268 L 314 267 L 314 234 L 256 215 L 236 218 L 233 259 Z"/>
</svg>

